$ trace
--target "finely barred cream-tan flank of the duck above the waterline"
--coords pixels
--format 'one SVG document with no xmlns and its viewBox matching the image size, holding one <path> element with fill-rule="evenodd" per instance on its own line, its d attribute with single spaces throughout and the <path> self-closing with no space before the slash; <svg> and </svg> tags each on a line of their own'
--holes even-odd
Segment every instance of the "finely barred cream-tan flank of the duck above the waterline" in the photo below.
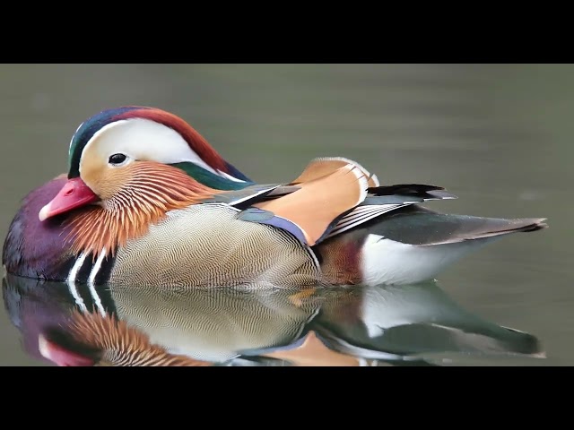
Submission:
<svg viewBox="0 0 574 430">
<path fill-rule="evenodd" d="M 277 228 L 235 218 L 209 203 L 171 211 L 117 251 L 109 282 L 226 287 L 315 285 L 321 275 L 309 250 Z"/>
</svg>

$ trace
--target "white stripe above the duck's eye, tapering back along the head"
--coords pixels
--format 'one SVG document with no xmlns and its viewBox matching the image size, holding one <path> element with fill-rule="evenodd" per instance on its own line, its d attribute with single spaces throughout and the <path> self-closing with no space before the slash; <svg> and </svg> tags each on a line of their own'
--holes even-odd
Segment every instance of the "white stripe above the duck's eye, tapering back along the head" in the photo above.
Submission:
<svg viewBox="0 0 574 430">
<path fill-rule="evenodd" d="M 132 118 L 104 125 L 86 143 L 82 157 L 91 147 L 106 162 L 110 155 L 121 152 L 131 159 L 163 164 L 191 162 L 219 175 L 189 147 L 178 132 L 149 119 Z M 80 159 L 80 172 L 82 161 Z"/>
</svg>

